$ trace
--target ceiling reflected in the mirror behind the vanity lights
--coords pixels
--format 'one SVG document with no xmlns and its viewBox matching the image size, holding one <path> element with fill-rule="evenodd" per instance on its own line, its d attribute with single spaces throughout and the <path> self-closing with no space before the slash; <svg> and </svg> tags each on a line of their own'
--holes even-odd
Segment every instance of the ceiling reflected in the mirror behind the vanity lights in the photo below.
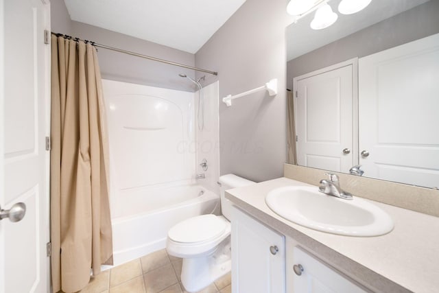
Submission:
<svg viewBox="0 0 439 293">
<path fill-rule="evenodd" d="M 314 13 L 292 23 L 286 29 L 287 61 L 318 49 L 335 40 L 358 32 L 384 19 L 414 8 L 428 0 L 372 0 L 364 10 L 351 15 L 343 15 L 337 7 L 341 0 L 329 0 L 329 5 L 338 14 L 333 25 L 323 30 L 312 30 L 309 27 Z"/>
</svg>

